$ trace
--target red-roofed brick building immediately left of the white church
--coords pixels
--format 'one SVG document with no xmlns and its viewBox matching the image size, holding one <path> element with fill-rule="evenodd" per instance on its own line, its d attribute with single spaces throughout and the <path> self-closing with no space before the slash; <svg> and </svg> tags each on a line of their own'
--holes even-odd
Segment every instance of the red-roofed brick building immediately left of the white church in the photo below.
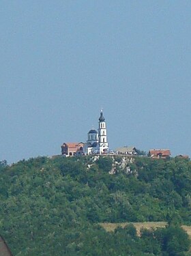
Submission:
<svg viewBox="0 0 191 256">
<path fill-rule="evenodd" d="M 61 154 L 63 156 L 80 156 L 83 155 L 83 142 L 67 142 L 61 145 Z"/>
</svg>

